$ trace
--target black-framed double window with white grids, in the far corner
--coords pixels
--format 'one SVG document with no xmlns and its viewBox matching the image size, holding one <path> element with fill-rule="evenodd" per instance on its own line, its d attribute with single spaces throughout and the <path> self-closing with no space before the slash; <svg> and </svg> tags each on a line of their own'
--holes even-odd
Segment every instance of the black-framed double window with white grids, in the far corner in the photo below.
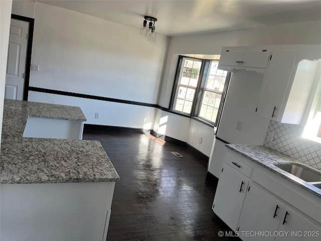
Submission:
<svg viewBox="0 0 321 241">
<path fill-rule="evenodd" d="M 170 108 L 216 126 L 230 78 L 217 67 L 218 60 L 180 56 Z"/>
</svg>

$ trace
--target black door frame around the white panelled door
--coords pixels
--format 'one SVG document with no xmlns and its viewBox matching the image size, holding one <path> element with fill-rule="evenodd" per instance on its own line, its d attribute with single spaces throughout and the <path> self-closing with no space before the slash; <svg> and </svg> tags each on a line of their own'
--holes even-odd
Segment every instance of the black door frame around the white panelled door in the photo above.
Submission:
<svg viewBox="0 0 321 241">
<path fill-rule="evenodd" d="M 30 69 L 31 69 L 31 52 L 32 52 L 32 42 L 33 42 L 33 38 L 34 38 L 35 19 L 24 17 L 24 16 L 19 16 L 19 15 L 15 15 L 15 14 L 12 14 L 11 18 L 29 23 L 27 55 L 26 55 L 26 70 L 25 70 L 25 84 L 24 84 L 24 95 L 23 95 L 23 100 L 28 100 Z"/>
</svg>

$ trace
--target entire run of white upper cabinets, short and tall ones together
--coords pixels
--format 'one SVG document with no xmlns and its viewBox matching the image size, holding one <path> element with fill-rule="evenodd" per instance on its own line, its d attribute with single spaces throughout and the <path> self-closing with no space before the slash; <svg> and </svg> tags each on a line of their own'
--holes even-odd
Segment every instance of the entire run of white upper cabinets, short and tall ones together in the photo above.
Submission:
<svg viewBox="0 0 321 241">
<path fill-rule="evenodd" d="M 321 45 L 223 47 L 219 69 L 263 73 L 253 111 L 277 122 L 304 126 L 321 75 L 319 59 Z"/>
</svg>

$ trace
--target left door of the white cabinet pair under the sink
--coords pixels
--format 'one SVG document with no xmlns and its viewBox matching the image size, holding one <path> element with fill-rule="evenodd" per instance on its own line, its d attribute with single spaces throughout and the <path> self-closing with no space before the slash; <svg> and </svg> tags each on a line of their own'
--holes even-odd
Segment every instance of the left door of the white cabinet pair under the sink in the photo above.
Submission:
<svg viewBox="0 0 321 241">
<path fill-rule="evenodd" d="M 242 240 L 274 240 L 271 235 L 250 235 L 249 231 L 277 231 L 284 204 L 255 185 L 246 194 L 239 221 L 239 235 Z"/>
</svg>

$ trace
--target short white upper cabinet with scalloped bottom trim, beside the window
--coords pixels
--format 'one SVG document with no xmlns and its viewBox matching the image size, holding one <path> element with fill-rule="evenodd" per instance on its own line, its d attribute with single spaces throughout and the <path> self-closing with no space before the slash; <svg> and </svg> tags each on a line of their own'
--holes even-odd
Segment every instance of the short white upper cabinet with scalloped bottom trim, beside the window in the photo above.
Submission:
<svg viewBox="0 0 321 241">
<path fill-rule="evenodd" d="M 270 51 L 264 48 L 254 50 L 244 48 L 246 47 L 223 47 L 218 68 L 229 72 L 237 70 L 264 72 L 269 62 Z"/>
</svg>

